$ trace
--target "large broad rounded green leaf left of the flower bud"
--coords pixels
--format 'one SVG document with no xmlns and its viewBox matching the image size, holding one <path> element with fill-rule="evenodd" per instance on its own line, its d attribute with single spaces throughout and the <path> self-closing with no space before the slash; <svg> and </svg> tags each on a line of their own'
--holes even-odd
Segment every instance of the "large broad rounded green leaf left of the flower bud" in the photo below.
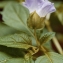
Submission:
<svg viewBox="0 0 63 63">
<path fill-rule="evenodd" d="M 17 2 L 8 3 L 3 12 L 3 21 L 5 24 L 30 34 L 27 26 L 27 19 L 29 17 L 29 10 Z"/>
</svg>

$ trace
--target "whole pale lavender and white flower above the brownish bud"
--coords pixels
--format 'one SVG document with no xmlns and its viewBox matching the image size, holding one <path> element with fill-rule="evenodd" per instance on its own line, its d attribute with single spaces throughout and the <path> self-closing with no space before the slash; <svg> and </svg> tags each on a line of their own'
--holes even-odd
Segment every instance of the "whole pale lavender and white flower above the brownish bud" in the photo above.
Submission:
<svg viewBox="0 0 63 63">
<path fill-rule="evenodd" d="M 40 17 L 45 17 L 56 10 L 54 4 L 48 0 L 25 0 L 22 4 L 29 9 L 30 13 L 36 11 Z"/>
</svg>

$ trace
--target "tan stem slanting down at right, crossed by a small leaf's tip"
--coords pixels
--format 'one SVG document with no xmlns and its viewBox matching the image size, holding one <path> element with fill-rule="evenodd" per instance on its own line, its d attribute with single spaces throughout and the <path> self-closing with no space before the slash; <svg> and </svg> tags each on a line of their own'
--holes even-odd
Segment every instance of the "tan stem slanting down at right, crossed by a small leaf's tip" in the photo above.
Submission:
<svg viewBox="0 0 63 63">
<path fill-rule="evenodd" d="M 46 24 L 47 29 L 48 29 L 50 32 L 52 32 L 52 28 L 51 28 L 51 26 L 50 26 L 49 21 L 45 21 L 45 24 Z M 53 37 L 52 40 L 53 40 L 53 43 L 55 44 L 55 46 L 56 46 L 58 52 L 63 55 L 63 50 L 62 50 L 62 48 L 61 48 L 61 46 L 60 46 L 60 44 L 59 44 L 57 38 L 56 38 L 56 37 Z"/>
</svg>

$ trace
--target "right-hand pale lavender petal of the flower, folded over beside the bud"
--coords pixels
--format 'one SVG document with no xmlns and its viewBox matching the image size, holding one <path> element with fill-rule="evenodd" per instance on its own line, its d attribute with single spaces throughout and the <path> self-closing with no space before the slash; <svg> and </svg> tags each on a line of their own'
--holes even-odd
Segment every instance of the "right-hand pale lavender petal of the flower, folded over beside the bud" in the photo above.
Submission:
<svg viewBox="0 0 63 63">
<path fill-rule="evenodd" d="M 52 13 L 55 10 L 56 9 L 54 7 L 54 4 L 49 1 L 46 1 L 46 2 L 43 2 L 42 7 L 36 12 L 40 17 L 45 17 L 47 14 Z"/>
</svg>

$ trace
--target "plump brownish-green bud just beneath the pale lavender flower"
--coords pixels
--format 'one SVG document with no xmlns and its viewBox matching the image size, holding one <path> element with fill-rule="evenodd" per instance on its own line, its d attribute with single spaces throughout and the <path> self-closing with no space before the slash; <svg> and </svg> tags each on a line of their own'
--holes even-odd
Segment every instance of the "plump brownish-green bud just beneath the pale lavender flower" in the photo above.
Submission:
<svg viewBox="0 0 63 63">
<path fill-rule="evenodd" d="M 30 14 L 27 24 L 29 28 L 32 29 L 41 29 L 45 25 L 45 17 L 40 17 L 36 12 Z"/>
</svg>

